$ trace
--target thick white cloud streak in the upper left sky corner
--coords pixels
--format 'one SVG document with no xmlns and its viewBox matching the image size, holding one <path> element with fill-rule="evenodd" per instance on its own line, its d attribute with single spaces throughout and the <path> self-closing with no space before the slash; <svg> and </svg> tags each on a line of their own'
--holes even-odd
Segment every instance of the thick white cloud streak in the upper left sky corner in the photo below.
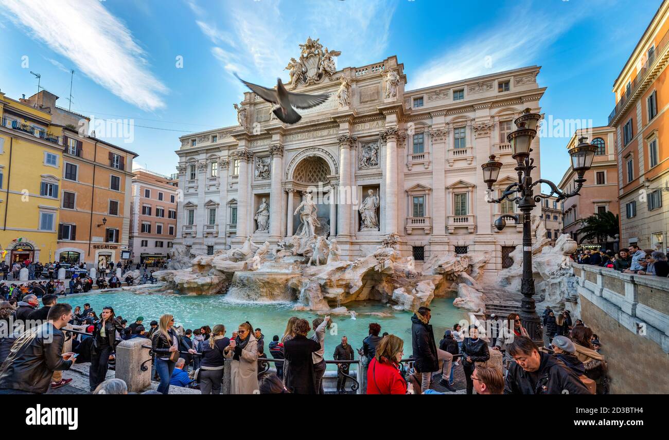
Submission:
<svg viewBox="0 0 669 440">
<path fill-rule="evenodd" d="M 165 106 L 162 95 L 168 90 L 149 71 L 145 51 L 100 1 L 0 0 L 0 5 L 17 27 L 122 100 L 142 110 Z"/>
</svg>

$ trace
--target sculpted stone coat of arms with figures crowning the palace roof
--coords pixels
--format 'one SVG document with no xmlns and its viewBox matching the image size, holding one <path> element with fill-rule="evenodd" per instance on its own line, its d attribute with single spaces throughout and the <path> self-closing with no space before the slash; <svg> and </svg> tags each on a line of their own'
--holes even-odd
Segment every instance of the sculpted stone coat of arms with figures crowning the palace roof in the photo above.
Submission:
<svg viewBox="0 0 669 440">
<path fill-rule="evenodd" d="M 334 57 L 341 55 L 341 51 L 323 49 L 323 45 L 318 42 L 320 38 L 311 39 L 308 37 L 306 43 L 300 44 L 300 58 L 290 59 L 286 70 L 290 72 L 290 86 L 288 90 L 294 90 L 297 86 L 310 86 L 317 84 L 329 78 L 337 72 L 337 66 L 334 63 Z"/>
</svg>

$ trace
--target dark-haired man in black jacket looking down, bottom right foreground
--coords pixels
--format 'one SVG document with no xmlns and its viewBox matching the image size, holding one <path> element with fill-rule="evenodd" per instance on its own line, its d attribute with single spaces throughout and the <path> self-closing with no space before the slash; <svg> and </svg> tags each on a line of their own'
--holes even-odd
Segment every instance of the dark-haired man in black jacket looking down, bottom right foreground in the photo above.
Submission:
<svg viewBox="0 0 669 440">
<path fill-rule="evenodd" d="M 572 370 L 539 352 L 530 338 L 516 337 L 506 350 L 516 362 L 509 366 L 504 394 L 590 394 Z"/>
</svg>

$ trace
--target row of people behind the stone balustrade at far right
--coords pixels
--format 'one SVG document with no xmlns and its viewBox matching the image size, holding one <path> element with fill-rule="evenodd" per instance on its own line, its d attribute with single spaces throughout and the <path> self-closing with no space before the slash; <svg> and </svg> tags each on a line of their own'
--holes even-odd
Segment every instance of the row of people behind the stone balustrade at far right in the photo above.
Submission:
<svg viewBox="0 0 669 440">
<path fill-rule="evenodd" d="M 571 255 L 571 257 L 577 263 L 607 267 L 623 273 L 664 278 L 669 276 L 669 263 L 667 263 L 667 256 L 664 252 L 641 249 L 637 245 L 624 247 L 617 253 L 610 250 L 591 251 L 585 249 Z"/>
</svg>

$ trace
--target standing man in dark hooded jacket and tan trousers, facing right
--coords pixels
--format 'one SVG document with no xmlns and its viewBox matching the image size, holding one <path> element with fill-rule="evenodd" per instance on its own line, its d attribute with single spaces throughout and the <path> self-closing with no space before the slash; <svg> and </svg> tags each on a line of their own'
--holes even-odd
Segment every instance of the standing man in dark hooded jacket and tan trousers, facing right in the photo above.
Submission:
<svg viewBox="0 0 669 440">
<path fill-rule="evenodd" d="M 429 325 L 429 318 L 432 318 L 429 308 L 423 306 L 411 316 L 411 348 L 413 349 L 413 365 L 421 374 L 421 392 L 429 389 L 429 380 L 432 378 L 432 372 L 439 370 L 439 361 L 444 360 L 442 368 L 442 381 L 440 384 L 448 391 L 456 391 L 448 383 L 448 376 L 451 371 L 453 355 L 443 350 L 437 350 L 437 344 L 434 342 L 434 332 Z"/>
</svg>

